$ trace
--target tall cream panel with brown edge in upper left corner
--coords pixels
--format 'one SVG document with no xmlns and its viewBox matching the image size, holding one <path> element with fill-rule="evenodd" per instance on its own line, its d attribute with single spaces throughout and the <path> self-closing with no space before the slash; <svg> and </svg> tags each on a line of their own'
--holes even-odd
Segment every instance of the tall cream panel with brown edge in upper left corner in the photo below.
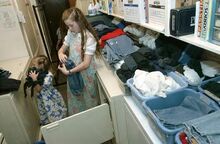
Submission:
<svg viewBox="0 0 220 144">
<path fill-rule="evenodd" d="M 0 2 L 0 61 L 34 56 L 43 49 L 29 0 Z"/>
</svg>

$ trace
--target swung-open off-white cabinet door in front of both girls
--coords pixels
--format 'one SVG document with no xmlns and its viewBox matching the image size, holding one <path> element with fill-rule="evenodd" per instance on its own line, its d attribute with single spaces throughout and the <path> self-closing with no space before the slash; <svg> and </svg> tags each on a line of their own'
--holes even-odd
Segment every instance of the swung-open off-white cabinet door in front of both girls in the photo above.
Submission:
<svg viewBox="0 0 220 144">
<path fill-rule="evenodd" d="M 41 128 L 47 144 L 100 144 L 113 138 L 109 105 L 72 115 Z"/>
</svg>

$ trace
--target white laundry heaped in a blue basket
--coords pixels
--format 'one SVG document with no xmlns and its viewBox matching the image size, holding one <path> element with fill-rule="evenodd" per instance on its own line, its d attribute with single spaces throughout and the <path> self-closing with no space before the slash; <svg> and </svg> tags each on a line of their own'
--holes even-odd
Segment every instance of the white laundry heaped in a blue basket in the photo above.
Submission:
<svg viewBox="0 0 220 144">
<path fill-rule="evenodd" d="M 133 81 L 133 85 L 146 97 L 166 97 L 166 92 L 180 88 L 180 85 L 172 77 L 165 76 L 159 71 L 136 70 Z"/>
</svg>

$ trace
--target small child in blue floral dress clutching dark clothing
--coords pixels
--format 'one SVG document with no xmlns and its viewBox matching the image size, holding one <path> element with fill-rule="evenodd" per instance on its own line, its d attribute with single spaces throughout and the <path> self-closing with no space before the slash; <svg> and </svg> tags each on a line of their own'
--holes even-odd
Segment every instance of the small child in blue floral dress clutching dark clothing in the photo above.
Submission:
<svg viewBox="0 0 220 144">
<path fill-rule="evenodd" d="M 36 56 L 32 59 L 30 66 L 28 77 L 37 91 L 41 125 L 64 118 L 67 109 L 60 92 L 52 84 L 53 74 L 50 71 L 48 58 L 44 55 Z"/>
</svg>

